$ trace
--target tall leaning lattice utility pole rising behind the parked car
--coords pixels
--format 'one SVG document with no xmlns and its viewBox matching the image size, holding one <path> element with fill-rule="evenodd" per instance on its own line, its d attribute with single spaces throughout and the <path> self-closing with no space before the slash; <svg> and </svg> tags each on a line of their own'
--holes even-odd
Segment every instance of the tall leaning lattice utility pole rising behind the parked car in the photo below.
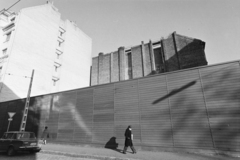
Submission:
<svg viewBox="0 0 240 160">
<path fill-rule="evenodd" d="M 31 76 L 31 81 L 30 81 L 29 88 L 28 88 L 28 94 L 27 94 L 27 98 L 26 98 L 26 102 L 25 102 L 25 107 L 24 107 L 24 110 L 23 110 L 23 116 L 22 116 L 22 122 L 21 122 L 21 125 L 20 125 L 20 131 L 25 131 L 25 127 L 26 127 L 33 76 L 34 76 L 34 70 L 32 70 L 32 76 Z"/>
</svg>

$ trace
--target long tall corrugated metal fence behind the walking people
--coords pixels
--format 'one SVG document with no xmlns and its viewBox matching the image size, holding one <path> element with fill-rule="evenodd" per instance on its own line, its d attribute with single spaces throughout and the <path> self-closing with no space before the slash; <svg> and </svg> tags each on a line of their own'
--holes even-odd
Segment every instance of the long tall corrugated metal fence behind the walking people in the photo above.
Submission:
<svg viewBox="0 0 240 160">
<path fill-rule="evenodd" d="M 9 111 L 17 112 L 10 130 L 19 129 L 24 101 L 0 104 L 1 135 Z M 40 137 L 48 126 L 51 141 L 122 146 L 128 125 L 142 148 L 240 151 L 239 61 L 32 97 L 26 130 Z"/>
</svg>

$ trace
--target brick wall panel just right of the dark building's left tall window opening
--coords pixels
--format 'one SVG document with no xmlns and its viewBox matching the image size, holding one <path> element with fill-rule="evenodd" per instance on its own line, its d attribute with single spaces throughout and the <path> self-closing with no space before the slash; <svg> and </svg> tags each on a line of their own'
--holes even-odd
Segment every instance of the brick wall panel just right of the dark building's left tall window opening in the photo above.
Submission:
<svg viewBox="0 0 240 160">
<path fill-rule="evenodd" d="M 141 46 L 131 48 L 132 52 L 132 73 L 133 78 L 143 76 L 142 54 Z"/>
</svg>

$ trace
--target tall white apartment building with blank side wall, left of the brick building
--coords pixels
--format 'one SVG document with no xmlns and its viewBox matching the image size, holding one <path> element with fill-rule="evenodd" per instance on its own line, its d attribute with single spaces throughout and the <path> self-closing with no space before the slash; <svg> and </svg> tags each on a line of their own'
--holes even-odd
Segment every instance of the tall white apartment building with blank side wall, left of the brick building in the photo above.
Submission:
<svg viewBox="0 0 240 160">
<path fill-rule="evenodd" d="M 89 86 L 92 40 L 52 3 L 0 13 L 0 102 Z"/>
</svg>

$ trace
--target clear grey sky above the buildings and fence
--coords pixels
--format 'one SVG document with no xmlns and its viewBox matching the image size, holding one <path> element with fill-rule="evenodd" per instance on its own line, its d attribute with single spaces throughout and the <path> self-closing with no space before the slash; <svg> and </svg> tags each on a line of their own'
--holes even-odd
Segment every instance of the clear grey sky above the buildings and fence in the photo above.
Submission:
<svg viewBox="0 0 240 160">
<path fill-rule="evenodd" d="M 0 10 L 18 0 L 0 0 Z M 174 31 L 206 42 L 208 64 L 240 60 L 240 0 L 51 0 L 92 39 L 92 56 L 160 40 Z M 21 0 L 11 10 L 43 5 Z"/>
</svg>

